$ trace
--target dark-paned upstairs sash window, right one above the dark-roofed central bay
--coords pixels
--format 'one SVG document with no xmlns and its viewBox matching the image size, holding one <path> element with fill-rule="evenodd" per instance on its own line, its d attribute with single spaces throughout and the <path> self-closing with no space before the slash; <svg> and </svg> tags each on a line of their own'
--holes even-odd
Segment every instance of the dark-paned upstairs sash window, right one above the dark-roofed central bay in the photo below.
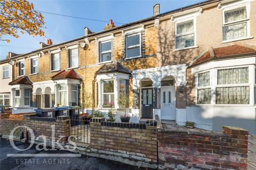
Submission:
<svg viewBox="0 0 256 170">
<path fill-rule="evenodd" d="M 141 33 L 126 36 L 126 58 L 141 56 Z"/>
</svg>

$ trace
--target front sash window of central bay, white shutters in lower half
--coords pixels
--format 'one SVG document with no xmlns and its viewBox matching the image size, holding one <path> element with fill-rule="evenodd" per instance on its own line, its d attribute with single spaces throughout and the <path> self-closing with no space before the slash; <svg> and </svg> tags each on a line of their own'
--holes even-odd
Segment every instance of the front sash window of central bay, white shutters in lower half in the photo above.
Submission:
<svg viewBox="0 0 256 170">
<path fill-rule="evenodd" d="M 102 83 L 102 106 L 114 106 L 114 80 L 104 80 Z"/>
</svg>

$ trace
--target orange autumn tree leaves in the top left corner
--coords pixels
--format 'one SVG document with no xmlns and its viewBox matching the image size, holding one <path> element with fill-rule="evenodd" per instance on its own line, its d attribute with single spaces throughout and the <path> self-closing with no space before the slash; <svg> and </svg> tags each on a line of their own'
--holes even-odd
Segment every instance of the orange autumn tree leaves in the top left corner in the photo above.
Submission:
<svg viewBox="0 0 256 170">
<path fill-rule="evenodd" d="M 27 0 L 0 0 L 0 40 L 4 35 L 18 38 L 18 31 L 44 36 L 44 18 Z M 6 40 L 10 42 L 10 40 Z"/>
</svg>

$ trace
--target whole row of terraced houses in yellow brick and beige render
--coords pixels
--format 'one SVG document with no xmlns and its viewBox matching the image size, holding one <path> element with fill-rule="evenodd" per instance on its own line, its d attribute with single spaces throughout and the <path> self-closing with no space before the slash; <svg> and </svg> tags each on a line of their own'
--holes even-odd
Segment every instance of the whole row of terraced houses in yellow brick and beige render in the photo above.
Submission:
<svg viewBox="0 0 256 170">
<path fill-rule="evenodd" d="M 255 133 L 256 1 L 206 1 L 10 57 L 13 113 L 81 105 L 118 116 L 121 92 L 140 118 Z M 103 25 L 102 25 L 103 26 Z M 82 90 L 84 89 L 84 90 Z"/>
</svg>

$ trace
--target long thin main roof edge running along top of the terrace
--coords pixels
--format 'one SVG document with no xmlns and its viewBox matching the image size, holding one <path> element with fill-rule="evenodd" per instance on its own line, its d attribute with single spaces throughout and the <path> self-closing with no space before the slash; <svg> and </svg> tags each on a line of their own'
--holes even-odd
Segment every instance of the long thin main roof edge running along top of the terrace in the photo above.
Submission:
<svg viewBox="0 0 256 170">
<path fill-rule="evenodd" d="M 93 33 L 90 33 L 89 35 L 78 37 L 78 38 L 71 39 L 71 40 L 68 40 L 68 41 L 64 41 L 64 42 L 59 43 L 59 44 L 47 46 L 47 47 L 44 47 L 44 48 L 39 48 L 39 49 L 36 49 L 36 50 L 34 50 L 32 52 L 29 52 L 29 53 L 26 53 L 26 54 L 20 54 L 20 55 L 14 56 L 12 58 L 17 58 L 17 57 L 26 56 L 26 55 L 29 55 L 29 54 L 41 52 L 42 50 L 46 50 L 46 49 L 53 48 L 53 47 L 58 47 L 58 46 L 65 45 L 65 44 L 68 44 L 68 43 L 73 43 L 74 41 L 83 40 L 84 38 L 89 38 L 89 37 L 101 35 L 103 33 L 115 31 L 115 30 L 118 30 L 118 29 L 123 29 L 123 28 L 126 28 L 126 27 L 133 26 L 135 24 L 143 23 L 143 22 L 153 21 L 153 20 L 155 20 L 155 18 L 159 18 L 159 17 L 164 16 L 164 15 L 170 15 L 170 14 L 173 14 L 173 13 L 189 10 L 191 8 L 194 8 L 194 7 L 199 7 L 199 6 L 203 6 L 203 5 L 207 5 L 207 4 L 212 4 L 212 3 L 218 3 L 218 2 L 221 2 L 221 1 L 222 0 L 208 0 L 208 1 L 203 1 L 203 2 L 196 3 L 196 4 L 184 6 L 184 7 L 177 8 L 177 9 L 174 9 L 174 10 L 171 10 L 171 11 L 167 11 L 167 12 L 155 15 L 155 16 L 150 16 L 150 17 L 145 18 L 145 19 L 141 19 L 141 20 L 138 20 L 138 21 L 126 23 L 124 25 L 120 25 L 118 27 L 114 27 L 114 28 L 111 28 L 111 29 L 108 29 L 108 30 L 103 30 L 103 31 L 99 31 L 99 32 L 93 32 Z"/>
</svg>

